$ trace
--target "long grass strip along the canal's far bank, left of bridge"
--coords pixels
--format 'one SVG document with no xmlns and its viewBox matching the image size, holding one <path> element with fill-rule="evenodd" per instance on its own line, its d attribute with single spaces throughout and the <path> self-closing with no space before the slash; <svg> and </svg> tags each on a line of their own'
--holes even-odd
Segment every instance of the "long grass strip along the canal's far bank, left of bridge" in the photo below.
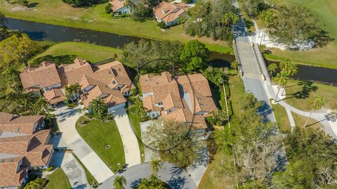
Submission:
<svg viewBox="0 0 337 189">
<path fill-rule="evenodd" d="M 0 11 L 11 18 L 45 22 L 53 25 L 80 27 L 149 39 L 177 40 L 182 42 L 199 39 L 211 51 L 221 53 L 232 52 L 230 46 L 223 41 L 213 41 L 209 37 L 190 37 L 185 34 L 183 25 L 178 25 L 162 32 L 155 20 L 137 22 L 131 18 L 112 19 L 111 15 L 105 13 L 106 4 L 99 4 L 89 8 L 74 8 L 60 0 L 31 0 L 29 4 L 35 6 L 18 10 L 18 4 L 7 4 L 5 1 L 0 1 Z"/>
</svg>

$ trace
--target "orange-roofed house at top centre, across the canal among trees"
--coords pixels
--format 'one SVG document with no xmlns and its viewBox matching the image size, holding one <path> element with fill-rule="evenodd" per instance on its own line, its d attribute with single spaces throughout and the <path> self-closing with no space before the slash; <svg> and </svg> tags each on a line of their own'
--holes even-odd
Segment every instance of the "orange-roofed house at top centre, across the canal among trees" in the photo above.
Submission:
<svg viewBox="0 0 337 189">
<path fill-rule="evenodd" d="M 161 2 L 153 8 L 153 13 L 158 22 L 165 22 L 166 26 L 177 25 L 179 18 L 185 15 L 187 4 L 176 2 Z"/>
</svg>

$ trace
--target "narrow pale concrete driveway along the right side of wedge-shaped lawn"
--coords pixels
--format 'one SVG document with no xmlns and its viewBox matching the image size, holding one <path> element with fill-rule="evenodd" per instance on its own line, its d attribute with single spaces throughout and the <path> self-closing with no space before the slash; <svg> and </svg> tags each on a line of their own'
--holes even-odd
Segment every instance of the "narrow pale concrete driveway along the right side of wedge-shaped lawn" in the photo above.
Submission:
<svg viewBox="0 0 337 189">
<path fill-rule="evenodd" d="M 126 110 L 124 110 L 124 108 L 119 108 L 114 110 L 112 115 L 114 115 L 114 121 L 116 122 L 119 134 L 121 135 L 126 164 L 128 164 L 129 167 L 140 164 L 140 149 L 138 145 L 138 139 L 136 134 L 133 133 L 130 119 L 128 119 Z"/>
</svg>

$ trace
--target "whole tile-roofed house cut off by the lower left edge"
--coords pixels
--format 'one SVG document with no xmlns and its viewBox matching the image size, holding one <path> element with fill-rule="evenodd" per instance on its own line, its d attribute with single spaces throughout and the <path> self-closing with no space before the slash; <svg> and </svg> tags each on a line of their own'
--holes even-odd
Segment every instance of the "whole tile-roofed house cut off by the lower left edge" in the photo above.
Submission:
<svg viewBox="0 0 337 189">
<path fill-rule="evenodd" d="M 0 188 L 17 188 L 27 171 L 46 168 L 53 155 L 44 116 L 14 116 L 0 112 Z"/>
</svg>

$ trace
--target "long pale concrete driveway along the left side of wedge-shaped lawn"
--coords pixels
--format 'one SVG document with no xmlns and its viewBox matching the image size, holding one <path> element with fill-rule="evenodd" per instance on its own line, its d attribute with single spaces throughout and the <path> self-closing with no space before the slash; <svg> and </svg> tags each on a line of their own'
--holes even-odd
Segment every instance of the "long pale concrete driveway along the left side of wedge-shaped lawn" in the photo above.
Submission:
<svg viewBox="0 0 337 189">
<path fill-rule="evenodd" d="M 67 109 L 60 107 L 54 112 L 58 120 L 58 127 L 62 132 L 62 141 L 67 143 L 67 146 L 73 150 L 74 154 L 79 157 L 86 169 L 96 178 L 99 183 L 107 180 L 114 174 L 107 165 L 96 155 L 90 146 L 84 141 L 76 130 L 76 122 L 81 113 L 78 110 L 81 107 Z"/>
</svg>

